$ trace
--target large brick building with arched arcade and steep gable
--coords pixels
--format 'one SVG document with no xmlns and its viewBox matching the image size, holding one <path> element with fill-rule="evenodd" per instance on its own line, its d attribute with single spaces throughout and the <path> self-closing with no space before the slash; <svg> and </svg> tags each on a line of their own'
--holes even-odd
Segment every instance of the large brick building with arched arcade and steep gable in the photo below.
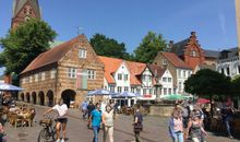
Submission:
<svg viewBox="0 0 240 142">
<path fill-rule="evenodd" d="M 22 100 L 52 106 L 58 98 L 82 103 L 87 91 L 104 87 L 104 64 L 84 35 L 35 58 L 20 76 Z"/>
</svg>

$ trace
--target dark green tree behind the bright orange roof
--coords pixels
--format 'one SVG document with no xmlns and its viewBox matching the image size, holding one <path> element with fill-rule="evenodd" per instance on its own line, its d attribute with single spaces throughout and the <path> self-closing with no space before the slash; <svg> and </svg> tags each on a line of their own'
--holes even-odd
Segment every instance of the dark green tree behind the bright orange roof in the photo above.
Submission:
<svg viewBox="0 0 240 142">
<path fill-rule="evenodd" d="M 132 56 L 125 51 L 124 43 L 118 43 L 116 39 L 106 37 L 103 34 L 95 34 L 89 43 L 98 56 L 115 57 L 125 60 L 132 58 Z"/>
</svg>

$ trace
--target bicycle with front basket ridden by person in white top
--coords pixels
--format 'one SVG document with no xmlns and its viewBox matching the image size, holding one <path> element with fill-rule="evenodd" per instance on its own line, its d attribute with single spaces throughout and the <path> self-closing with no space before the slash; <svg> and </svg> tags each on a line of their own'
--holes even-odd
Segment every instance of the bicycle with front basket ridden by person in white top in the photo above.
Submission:
<svg viewBox="0 0 240 142">
<path fill-rule="evenodd" d="M 55 123 L 52 125 L 52 121 L 55 121 Z M 37 141 L 38 142 L 51 142 L 56 141 L 56 119 L 53 120 L 52 118 L 48 117 L 48 118 L 44 118 L 39 121 L 39 125 L 41 127 L 44 127 L 43 130 L 40 130 Z"/>
</svg>

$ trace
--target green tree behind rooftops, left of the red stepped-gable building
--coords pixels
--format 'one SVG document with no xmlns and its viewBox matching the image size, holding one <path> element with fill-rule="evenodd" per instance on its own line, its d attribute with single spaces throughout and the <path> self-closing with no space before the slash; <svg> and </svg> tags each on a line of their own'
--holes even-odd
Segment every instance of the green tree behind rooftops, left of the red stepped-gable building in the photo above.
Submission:
<svg viewBox="0 0 240 142">
<path fill-rule="evenodd" d="M 166 40 L 159 34 L 148 32 L 142 39 L 140 46 L 134 50 L 135 60 L 145 63 L 152 63 L 160 50 L 166 49 Z"/>
</svg>

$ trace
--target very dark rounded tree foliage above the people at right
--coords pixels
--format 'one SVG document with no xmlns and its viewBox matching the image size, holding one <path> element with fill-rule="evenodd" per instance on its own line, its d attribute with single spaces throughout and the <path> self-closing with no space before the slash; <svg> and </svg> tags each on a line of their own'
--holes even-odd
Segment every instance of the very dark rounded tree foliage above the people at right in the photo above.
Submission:
<svg viewBox="0 0 240 142">
<path fill-rule="evenodd" d="M 192 74 L 184 82 L 184 91 L 196 95 L 228 95 L 230 79 L 209 69 Z"/>
</svg>

